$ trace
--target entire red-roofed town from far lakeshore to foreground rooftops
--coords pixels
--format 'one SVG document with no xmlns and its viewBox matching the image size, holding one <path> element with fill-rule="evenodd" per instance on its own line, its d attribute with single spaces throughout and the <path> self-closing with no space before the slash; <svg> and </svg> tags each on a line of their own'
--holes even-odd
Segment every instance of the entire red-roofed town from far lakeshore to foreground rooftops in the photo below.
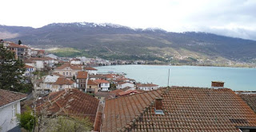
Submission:
<svg viewBox="0 0 256 132">
<path fill-rule="evenodd" d="M 22 60 L 24 83 L 31 87 L 23 93 L 0 87 L 0 131 L 256 130 L 255 91 L 232 91 L 221 81 L 209 88 L 159 87 L 97 69 L 143 60 L 58 57 L 22 41 L 1 45 Z M 11 64 L 6 60 L 1 65 Z"/>
</svg>

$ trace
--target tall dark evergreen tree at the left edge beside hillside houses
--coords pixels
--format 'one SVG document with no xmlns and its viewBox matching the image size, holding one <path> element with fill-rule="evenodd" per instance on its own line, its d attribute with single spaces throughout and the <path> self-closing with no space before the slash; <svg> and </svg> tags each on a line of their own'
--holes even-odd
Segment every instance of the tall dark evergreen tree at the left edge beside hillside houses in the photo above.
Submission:
<svg viewBox="0 0 256 132">
<path fill-rule="evenodd" d="M 14 52 L 6 49 L 0 42 L 0 87 L 10 91 L 26 92 L 29 84 L 25 83 L 25 64 L 16 60 Z"/>
</svg>

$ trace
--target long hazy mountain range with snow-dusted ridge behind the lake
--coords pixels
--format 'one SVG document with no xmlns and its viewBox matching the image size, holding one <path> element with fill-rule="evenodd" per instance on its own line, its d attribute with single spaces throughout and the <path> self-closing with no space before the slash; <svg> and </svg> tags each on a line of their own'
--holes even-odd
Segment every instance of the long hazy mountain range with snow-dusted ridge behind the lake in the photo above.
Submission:
<svg viewBox="0 0 256 132">
<path fill-rule="evenodd" d="M 212 33 L 172 33 L 87 22 L 34 29 L 0 25 L 0 36 L 25 45 L 74 48 L 90 56 L 122 60 L 255 62 L 256 41 Z"/>
</svg>

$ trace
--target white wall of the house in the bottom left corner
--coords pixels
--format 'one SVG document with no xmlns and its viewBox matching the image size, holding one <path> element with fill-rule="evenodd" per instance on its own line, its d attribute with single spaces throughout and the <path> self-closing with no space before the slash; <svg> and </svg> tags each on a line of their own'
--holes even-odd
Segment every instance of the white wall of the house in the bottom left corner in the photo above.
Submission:
<svg viewBox="0 0 256 132">
<path fill-rule="evenodd" d="M 0 131 L 6 132 L 18 126 L 17 117 L 14 112 L 15 104 L 17 104 L 17 113 L 20 114 L 20 101 L 10 103 L 8 106 L 0 108 Z"/>
</svg>

